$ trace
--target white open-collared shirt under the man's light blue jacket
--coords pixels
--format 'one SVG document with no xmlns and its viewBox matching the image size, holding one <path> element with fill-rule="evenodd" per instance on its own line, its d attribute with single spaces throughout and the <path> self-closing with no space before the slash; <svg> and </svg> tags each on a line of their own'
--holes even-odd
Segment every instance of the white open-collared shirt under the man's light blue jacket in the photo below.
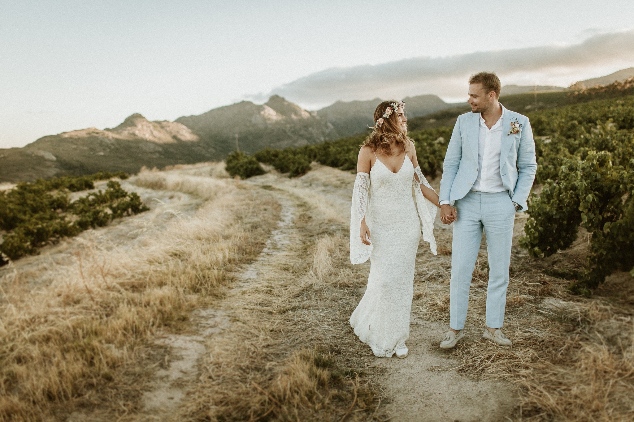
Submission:
<svg viewBox="0 0 634 422">
<path fill-rule="evenodd" d="M 479 192 L 503 192 L 507 190 L 502 183 L 500 175 L 500 154 L 502 144 L 502 121 L 504 120 L 504 108 L 502 115 L 490 129 L 486 126 L 480 113 L 480 133 L 477 148 L 477 178 L 471 190 Z M 450 204 L 450 201 L 440 201 L 440 205 Z"/>
</svg>

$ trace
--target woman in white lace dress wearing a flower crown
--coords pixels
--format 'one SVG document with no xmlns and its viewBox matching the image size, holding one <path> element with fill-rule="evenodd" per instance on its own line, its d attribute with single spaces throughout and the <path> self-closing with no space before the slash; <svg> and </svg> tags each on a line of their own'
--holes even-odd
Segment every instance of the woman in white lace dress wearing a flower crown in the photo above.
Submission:
<svg viewBox="0 0 634 422">
<path fill-rule="evenodd" d="M 420 171 L 403 108 L 403 101 L 384 101 L 374 112 L 374 130 L 359 151 L 350 216 L 350 261 L 370 258 L 368 287 L 350 325 L 379 357 L 407 356 L 421 231 L 436 255 L 438 195 Z"/>
</svg>

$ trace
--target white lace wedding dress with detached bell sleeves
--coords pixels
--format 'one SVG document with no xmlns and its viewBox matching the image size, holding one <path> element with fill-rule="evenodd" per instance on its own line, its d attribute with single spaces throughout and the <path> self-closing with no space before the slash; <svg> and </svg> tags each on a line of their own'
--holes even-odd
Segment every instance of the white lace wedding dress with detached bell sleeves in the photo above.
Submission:
<svg viewBox="0 0 634 422">
<path fill-rule="evenodd" d="M 420 192 L 415 174 L 431 188 L 420 167 L 413 168 L 407 156 L 397 173 L 377 159 L 370 174 L 357 173 L 354 182 L 350 260 L 360 264 L 370 258 L 370 276 L 350 325 L 379 357 L 391 357 L 410 335 L 414 263 L 421 230 L 436 255 L 432 230 L 437 208 Z M 364 216 L 371 245 L 364 245 L 359 238 Z"/>
</svg>

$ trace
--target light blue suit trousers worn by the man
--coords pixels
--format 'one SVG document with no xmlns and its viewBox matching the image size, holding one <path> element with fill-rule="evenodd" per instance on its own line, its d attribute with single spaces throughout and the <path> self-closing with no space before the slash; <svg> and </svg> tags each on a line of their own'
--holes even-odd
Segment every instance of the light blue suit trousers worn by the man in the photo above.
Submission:
<svg viewBox="0 0 634 422">
<path fill-rule="evenodd" d="M 469 287 L 484 229 L 489 255 L 486 325 L 501 328 L 507 304 L 515 207 L 507 191 L 496 194 L 470 191 L 454 206 L 458 209 L 458 221 L 453 223 L 451 244 L 450 326 L 454 330 L 465 327 Z"/>
</svg>

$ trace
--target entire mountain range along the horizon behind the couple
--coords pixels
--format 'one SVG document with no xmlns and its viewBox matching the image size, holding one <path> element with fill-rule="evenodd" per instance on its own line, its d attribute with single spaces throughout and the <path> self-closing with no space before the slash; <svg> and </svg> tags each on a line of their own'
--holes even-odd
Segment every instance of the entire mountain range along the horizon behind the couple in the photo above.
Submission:
<svg viewBox="0 0 634 422">
<path fill-rule="evenodd" d="M 634 75 L 634 68 L 576 82 L 568 89 L 540 85 L 536 87 L 539 99 L 534 104 L 528 97 L 524 98 L 527 94 L 505 93 L 504 101 L 526 110 L 555 106 L 569 101 L 564 97 L 574 90 L 583 92 L 588 89 L 586 85 L 624 80 L 630 73 Z M 503 87 L 505 92 L 524 89 L 532 94 L 535 88 Z M 599 94 L 614 95 L 596 93 Z M 117 127 L 71 130 L 46 135 L 22 148 L 0 149 L 0 182 L 100 170 L 136 173 L 141 166 L 163 167 L 224 159 L 238 146 L 241 151 L 253 153 L 264 147 L 283 149 L 316 144 L 367 130 L 373 124 L 372 115 L 380 101 L 379 98 L 337 101 L 325 108 L 307 111 L 283 97 L 271 96 L 264 104 L 240 101 L 200 115 L 181 116 L 175 121 L 149 121 L 133 113 Z M 404 101 L 412 129 L 450 124 L 466 105 L 446 103 L 430 94 L 405 97 Z M 429 118 L 421 120 L 422 116 Z"/>
</svg>

